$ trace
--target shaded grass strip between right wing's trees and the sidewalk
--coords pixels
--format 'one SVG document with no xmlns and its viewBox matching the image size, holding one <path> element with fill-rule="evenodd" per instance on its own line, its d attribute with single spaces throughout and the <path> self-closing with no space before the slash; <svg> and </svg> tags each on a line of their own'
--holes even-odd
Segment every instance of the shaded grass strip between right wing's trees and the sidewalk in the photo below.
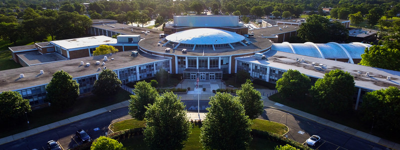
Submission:
<svg viewBox="0 0 400 150">
<path fill-rule="evenodd" d="M 279 93 L 273 94 L 268 97 L 269 100 L 279 102 L 281 104 L 287 105 L 289 107 L 334 121 L 336 123 L 366 132 L 378 137 L 383 137 L 385 139 L 390 139 L 394 142 L 400 142 L 400 139 L 397 135 L 392 135 L 391 133 L 385 130 L 371 130 L 372 123 L 365 122 L 361 120 L 361 115 L 358 114 L 358 111 L 355 110 L 347 110 L 345 112 L 331 114 L 327 113 L 322 109 L 318 109 L 318 106 L 312 102 L 311 97 L 300 98 L 296 100 L 288 100 L 280 97 Z M 372 132 L 371 132 L 372 131 Z M 390 135 L 391 134 L 391 135 Z"/>
</svg>

